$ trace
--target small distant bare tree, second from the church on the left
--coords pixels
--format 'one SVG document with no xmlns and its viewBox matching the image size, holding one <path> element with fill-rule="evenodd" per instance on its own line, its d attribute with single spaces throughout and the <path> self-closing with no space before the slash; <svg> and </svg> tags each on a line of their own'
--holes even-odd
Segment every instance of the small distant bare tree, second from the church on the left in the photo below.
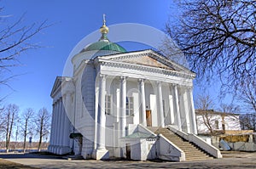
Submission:
<svg viewBox="0 0 256 169">
<path fill-rule="evenodd" d="M 26 136 L 28 133 L 28 127 L 29 127 L 29 122 L 32 121 L 34 115 L 34 111 L 31 108 L 26 109 L 23 114 L 22 114 L 22 122 L 24 123 L 23 125 L 23 132 L 24 132 L 24 142 L 23 142 L 23 151 L 26 152 Z"/>
</svg>

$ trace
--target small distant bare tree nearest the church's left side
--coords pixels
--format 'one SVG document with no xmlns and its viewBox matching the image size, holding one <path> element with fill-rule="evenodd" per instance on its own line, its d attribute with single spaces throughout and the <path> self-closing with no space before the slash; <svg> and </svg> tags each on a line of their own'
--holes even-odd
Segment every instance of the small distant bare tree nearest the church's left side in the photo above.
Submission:
<svg viewBox="0 0 256 169">
<path fill-rule="evenodd" d="M 36 121 L 37 132 L 39 134 L 38 150 L 40 151 L 43 137 L 49 134 L 49 128 L 50 128 L 49 111 L 46 110 L 45 108 L 40 109 L 38 111 L 38 115 L 35 121 Z"/>
</svg>

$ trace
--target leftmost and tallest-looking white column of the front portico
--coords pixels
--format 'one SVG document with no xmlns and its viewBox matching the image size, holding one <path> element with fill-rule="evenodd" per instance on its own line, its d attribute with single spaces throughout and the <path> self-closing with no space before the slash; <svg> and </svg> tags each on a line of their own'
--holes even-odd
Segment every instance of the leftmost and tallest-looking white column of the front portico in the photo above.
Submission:
<svg viewBox="0 0 256 169">
<path fill-rule="evenodd" d="M 99 104 L 98 104 L 98 127 L 97 127 L 97 149 L 105 148 L 105 127 L 106 127 L 106 115 L 105 115 L 105 92 L 106 92 L 106 77 L 100 75 L 99 80 Z"/>
</svg>

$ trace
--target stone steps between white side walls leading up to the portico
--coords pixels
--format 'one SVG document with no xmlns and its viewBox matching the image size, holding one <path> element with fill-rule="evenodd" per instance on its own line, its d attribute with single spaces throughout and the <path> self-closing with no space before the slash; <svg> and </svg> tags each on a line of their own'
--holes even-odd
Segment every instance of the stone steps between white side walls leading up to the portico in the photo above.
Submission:
<svg viewBox="0 0 256 169">
<path fill-rule="evenodd" d="M 213 159 L 212 156 L 207 155 L 206 152 L 197 147 L 195 144 L 189 143 L 189 141 L 184 140 L 169 129 L 160 127 L 148 127 L 148 129 L 155 134 L 162 134 L 169 141 L 171 141 L 172 144 L 175 144 L 179 149 L 182 149 L 185 153 L 186 161 L 201 161 Z"/>
</svg>

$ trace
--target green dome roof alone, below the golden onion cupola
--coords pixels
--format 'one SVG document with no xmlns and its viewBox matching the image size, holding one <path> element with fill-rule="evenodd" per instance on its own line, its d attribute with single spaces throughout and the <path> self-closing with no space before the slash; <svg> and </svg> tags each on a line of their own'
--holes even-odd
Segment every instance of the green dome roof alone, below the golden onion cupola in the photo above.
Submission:
<svg viewBox="0 0 256 169">
<path fill-rule="evenodd" d="M 120 53 L 125 53 L 126 50 L 125 48 L 121 47 L 119 44 L 115 42 L 109 42 L 107 39 L 101 39 L 98 42 L 91 43 L 89 46 L 84 48 L 82 52 L 86 51 L 92 51 L 92 50 L 111 50 L 111 51 L 116 51 Z"/>
</svg>

